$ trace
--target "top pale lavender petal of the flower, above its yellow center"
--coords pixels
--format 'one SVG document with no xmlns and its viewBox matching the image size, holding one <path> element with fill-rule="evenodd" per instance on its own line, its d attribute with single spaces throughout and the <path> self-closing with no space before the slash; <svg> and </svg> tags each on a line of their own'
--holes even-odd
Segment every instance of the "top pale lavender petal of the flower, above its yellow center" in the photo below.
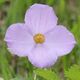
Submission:
<svg viewBox="0 0 80 80">
<path fill-rule="evenodd" d="M 48 5 L 34 4 L 25 14 L 25 23 L 33 33 L 45 33 L 56 26 L 57 17 Z"/>
</svg>

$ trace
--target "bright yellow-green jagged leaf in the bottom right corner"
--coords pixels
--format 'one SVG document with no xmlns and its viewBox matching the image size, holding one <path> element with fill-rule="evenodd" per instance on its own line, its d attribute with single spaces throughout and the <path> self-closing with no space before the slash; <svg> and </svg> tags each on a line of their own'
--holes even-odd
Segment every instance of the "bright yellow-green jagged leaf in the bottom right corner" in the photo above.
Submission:
<svg viewBox="0 0 80 80">
<path fill-rule="evenodd" d="M 72 66 L 68 71 L 65 71 L 65 77 L 70 80 L 80 80 L 80 67 L 78 65 Z"/>
</svg>

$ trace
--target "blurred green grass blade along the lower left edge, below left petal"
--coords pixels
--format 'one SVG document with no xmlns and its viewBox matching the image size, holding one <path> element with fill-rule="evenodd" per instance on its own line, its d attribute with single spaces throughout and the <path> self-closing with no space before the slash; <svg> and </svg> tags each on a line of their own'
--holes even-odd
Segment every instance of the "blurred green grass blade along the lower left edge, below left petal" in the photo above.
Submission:
<svg viewBox="0 0 80 80">
<path fill-rule="evenodd" d="M 8 60 L 5 57 L 5 54 L 6 54 L 5 43 L 3 43 L 2 48 L 0 49 L 1 74 L 3 75 L 4 80 L 10 80 L 12 78 L 12 71 L 8 64 Z"/>
</svg>

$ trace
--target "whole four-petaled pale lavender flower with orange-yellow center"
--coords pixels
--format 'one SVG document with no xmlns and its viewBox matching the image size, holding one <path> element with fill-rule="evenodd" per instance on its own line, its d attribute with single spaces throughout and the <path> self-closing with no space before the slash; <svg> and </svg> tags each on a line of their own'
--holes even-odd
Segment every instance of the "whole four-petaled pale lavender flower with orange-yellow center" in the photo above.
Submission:
<svg viewBox="0 0 80 80">
<path fill-rule="evenodd" d="M 54 10 L 43 4 L 32 5 L 25 14 L 25 23 L 12 24 L 5 35 L 8 50 L 27 56 L 36 67 L 52 66 L 58 57 L 71 52 L 75 38 L 66 27 L 57 25 Z"/>
</svg>

